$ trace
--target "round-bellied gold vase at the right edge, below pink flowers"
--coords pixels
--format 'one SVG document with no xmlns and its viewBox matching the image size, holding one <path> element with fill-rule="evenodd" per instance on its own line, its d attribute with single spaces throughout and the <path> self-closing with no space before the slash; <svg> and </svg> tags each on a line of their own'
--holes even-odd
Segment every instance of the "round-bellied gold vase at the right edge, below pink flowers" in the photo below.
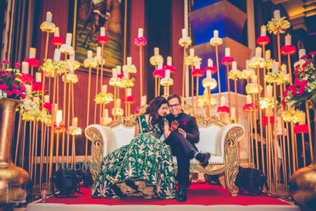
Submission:
<svg viewBox="0 0 316 211">
<path fill-rule="evenodd" d="M 316 103 L 310 102 L 310 105 L 314 110 L 314 118 L 316 120 Z M 308 167 L 303 167 L 294 172 L 290 179 L 290 190 L 292 196 L 298 203 L 306 207 L 316 209 L 316 144 L 314 145 L 312 163 Z"/>
</svg>

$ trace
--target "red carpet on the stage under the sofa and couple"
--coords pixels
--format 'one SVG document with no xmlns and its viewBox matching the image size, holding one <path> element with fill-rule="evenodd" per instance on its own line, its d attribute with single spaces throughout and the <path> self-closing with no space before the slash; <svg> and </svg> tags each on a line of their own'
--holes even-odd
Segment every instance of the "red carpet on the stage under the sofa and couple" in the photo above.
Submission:
<svg viewBox="0 0 316 211">
<path fill-rule="evenodd" d="M 89 188 L 81 188 L 84 195 L 78 198 L 50 197 L 47 203 L 63 203 L 67 205 L 96 204 L 96 205 L 290 205 L 270 196 L 230 196 L 230 192 L 221 186 L 209 184 L 192 184 L 187 191 L 187 201 L 179 203 L 174 200 L 144 199 L 126 197 L 121 200 L 108 198 L 91 198 Z"/>
</svg>

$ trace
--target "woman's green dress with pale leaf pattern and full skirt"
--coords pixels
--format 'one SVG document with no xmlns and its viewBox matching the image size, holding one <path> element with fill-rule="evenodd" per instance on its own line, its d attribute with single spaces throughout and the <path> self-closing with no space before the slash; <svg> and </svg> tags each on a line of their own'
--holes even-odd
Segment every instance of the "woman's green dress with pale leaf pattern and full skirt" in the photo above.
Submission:
<svg viewBox="0 0 316 211">
<path fill-rule="evenodd" d="M 145 115 L 140 115 L 137 122 L 140 134 L 103 158 L 91 188 L 94 198 L 176 198 L 171 149 L 159 139 L 161 127 L 149 124 Z M 164 120 L 164 124 L 168 122 Z"/>
</svg>

